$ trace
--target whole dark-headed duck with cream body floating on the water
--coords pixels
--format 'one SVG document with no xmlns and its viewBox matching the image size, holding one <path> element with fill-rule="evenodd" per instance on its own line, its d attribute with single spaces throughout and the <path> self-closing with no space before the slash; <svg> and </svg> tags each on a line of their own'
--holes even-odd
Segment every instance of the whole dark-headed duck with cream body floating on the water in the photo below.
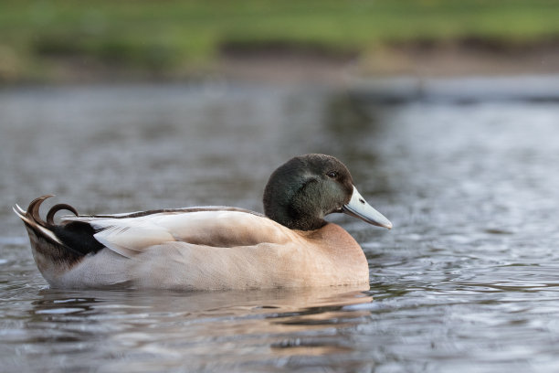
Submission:
<svg viewBox="0 0 559 373">
<path fill-rule="evenodd" d="M 26 210 L 37 268 L 51 288 L 211 291 L 367 285 L 361 246 L 326 221 L 345 213 L 374 226 L 392 223 L 353 186 L 332 155 L 299 155 L 280 165 L 264 189 L 264 214 L 244 208 L 163 208 L 114 215 L 79 215 L 48 198 Z M 55 222 L 55 214 L 67 214 Z"/>
</svg>

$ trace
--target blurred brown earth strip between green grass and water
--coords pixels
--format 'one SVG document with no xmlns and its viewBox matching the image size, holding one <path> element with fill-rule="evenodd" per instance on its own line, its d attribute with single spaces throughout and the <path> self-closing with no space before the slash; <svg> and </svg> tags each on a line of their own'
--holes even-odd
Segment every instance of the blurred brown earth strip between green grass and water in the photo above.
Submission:
<svg viewBox="0 0 559 373">
<path fill-rule="evenodd" d="M 559 73 L 559 39 L 502 43 L 468 38 L 454 42 L 418 40 L 369 52 L 332 52 L 301 46 L 227 46 L 211 62 L 169 69 L 142 69 L 80 56 L 53 56 L 45 76 L 10 77 L 0 85 L 96 82 L 247 80 L 344 85 L 352 80 L 507 76 Z"/>
</svg>

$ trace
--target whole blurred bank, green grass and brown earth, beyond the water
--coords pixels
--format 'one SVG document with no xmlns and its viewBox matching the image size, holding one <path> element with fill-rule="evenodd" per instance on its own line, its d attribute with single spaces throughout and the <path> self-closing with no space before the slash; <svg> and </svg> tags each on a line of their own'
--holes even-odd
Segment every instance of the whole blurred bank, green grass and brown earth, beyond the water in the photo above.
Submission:
<svg viewBox="0 0 559 373">
<path fill-rule="evenodd" d="M 0 4 L 0 81 L 549 73 L 554 0 Z"/>
</svg>

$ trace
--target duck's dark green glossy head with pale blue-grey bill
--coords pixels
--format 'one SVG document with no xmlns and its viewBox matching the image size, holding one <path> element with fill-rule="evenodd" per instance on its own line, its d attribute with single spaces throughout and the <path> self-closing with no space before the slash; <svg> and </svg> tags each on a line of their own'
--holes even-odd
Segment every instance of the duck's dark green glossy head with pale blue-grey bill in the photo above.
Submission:
<svg viewBox="0 0 559 373">
<path fill-rule="evenodd" d="M 301 155 L 269 176 L 264 213 L 290 229 L 313 230 L 324 217 L 344 212 L 387 229 L 392 223 L 361 197 L 345 165 L 331 155 Z"/>
</svg>

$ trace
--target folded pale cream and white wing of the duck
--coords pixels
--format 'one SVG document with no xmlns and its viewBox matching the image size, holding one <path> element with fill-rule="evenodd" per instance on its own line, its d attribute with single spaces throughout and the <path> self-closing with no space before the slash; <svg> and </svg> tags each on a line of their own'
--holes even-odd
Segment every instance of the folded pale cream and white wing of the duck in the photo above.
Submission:
<svg viewBox="0 0 559 373">
<path fill-rule="evenodd" d="M 96 231 L 95 240 L 129 258 L 166 242 L 234 248 L 264 242 L 281 244 L 292 234 L 269 218 L 237 208 L 186 208 L 62 219 L 63 223 L 90 224 Z"/>
</svg>

